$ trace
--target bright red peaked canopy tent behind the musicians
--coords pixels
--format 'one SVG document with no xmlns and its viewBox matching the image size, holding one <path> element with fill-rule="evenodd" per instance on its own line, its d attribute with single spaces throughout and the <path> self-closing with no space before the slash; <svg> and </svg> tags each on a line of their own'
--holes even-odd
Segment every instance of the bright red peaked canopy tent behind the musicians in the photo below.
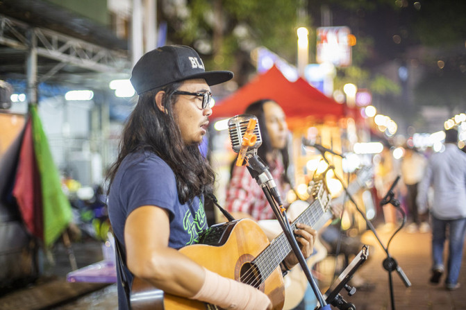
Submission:
<svg viewBox="0 0 466 310">
<path fill-rule="evenodd" d="M 299 119 L 339 119 L 345 116 L 345 105 L 328 98 L 303 78 L 290 82 L 274 66 L 219 101 L 213 109 L 212 117 L 242 114 L 250 103 L 263 98 L 270 98 L 281 105 L 288 118 L 288 125 L 296 124 Z"/>
</svg>

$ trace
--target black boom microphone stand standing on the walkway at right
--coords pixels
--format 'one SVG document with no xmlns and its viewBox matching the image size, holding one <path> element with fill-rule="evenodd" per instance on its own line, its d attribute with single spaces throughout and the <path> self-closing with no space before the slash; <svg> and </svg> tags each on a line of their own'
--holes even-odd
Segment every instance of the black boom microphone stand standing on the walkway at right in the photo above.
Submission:
<svg viewBox="0 0 466 310">
<path fill-rule="evenodd" d="M 367 226 L 372 231 L 372 233 L 376 237 L 378 243 L 381 245 L 381 247 L 385 251 L 385 253 L 387 255 L 387 258 L 383 261 L 383 268 L 385 268 L 385 270 L 388 271 L 388 282 L 389 282 L 389 286 L 390 286 L 390 300 L 392 302 L 392 310 L 395 310 L 395 307 L 394 307 L 394 295 L 393 295 L 393 283 L 392 283 L 392 271 L 393 270 L 397 271 L 399 277 L 401 277 L 401 280 L 403 281 L 403 283 L 405 284 L 406 287 L 411 286 L 411 282 L 409 281 L 408 277 L 406 277 L 406 274 L 403 272 L 401 267 L 397 264 L 397 261 L 388 252 L 388 246 L 390 246 L 390 242 L 392 241 L 394 235 L 397 234 L 397 232 L 399 232 L 401 230 L 404 223 L 406 222 L 406 214 L 403 212 L 403 209 L 399 208 L 399 200 L 394 198 L 394 193 L 393 193 L 394 186 L 395 186 L 395 184 L 397 184 L 397 182 L 399 180 L 399 176 L 393 182 L 393 184 L 390 187 L 390 190 L 388 191 L 387 195 L 385 195 L 385 198 L 383 198 L 383 200 L 381 201 L 381 204 L 382 203 L 384 203 L 384 204 L 392 203 L 392 205 L 394 205 L 394 207 L 397 207 L 397 209 L 399 209 L 401 211 L 401 214 L 403 215 L 403 223 L 401 223 L 401 226 L 398 228 L 398 230 L 393 233 L 393 235 L 390 237 L 390 240 L 388 241 L 388 245 L 385 247 L 383 245 L 383 242 L 381 241 L 381 239 L 378 237 L 374 225 L 372 225 L 372 223 L 366 218 L 364 212 L 358 207 L 358 204 L 353 199 L 353 196 L 351 196 L 351 193 L 349 193 L 347 187 L 344 186 L 344 183 L 338 177 L 338 175 L 337 175 L 337 173 L 335 171 L 335 167 L 332 166 L 330 164 L 330 162 L 328 162 L 328 159 L 325 157 L 325 152 L 328 152 L 329 149 L 324 148 L 324 146 L 320 146 L 318 144 L 313 145 L 313 147 L 317 148 L 317 150 L 319 150 L 319 152 L 322 154 L 322 157 L 324 158 L 324 161 L 326 162 L 326 164 L 328 164 L 328 166 L 331 167 L 331 169 L 333 170 L 333 174 L 335 175 L 335 178 L 337 178 L 337 180 L 342 184 L 342 187 L 343 187 L 344 192 L 346 193 L 347 197 L 349 198 L 349 200 L 351 200 L 351 203 L 353 203 L 355 205 L 356 209 L 361 214 L 361 216 L 363 216 L 364 221 L 366 222 Z M 342 158 L 344 157 L 341 154 L 335 153 L 333 150 L 331 152 L 329 152 L 329 153 L 332 153 L 333 155 L 338 155 L 338 156 L 340 156 Z M 386 203 L 385 203 L 385 201 L 386 201 Z"/>
</svg>

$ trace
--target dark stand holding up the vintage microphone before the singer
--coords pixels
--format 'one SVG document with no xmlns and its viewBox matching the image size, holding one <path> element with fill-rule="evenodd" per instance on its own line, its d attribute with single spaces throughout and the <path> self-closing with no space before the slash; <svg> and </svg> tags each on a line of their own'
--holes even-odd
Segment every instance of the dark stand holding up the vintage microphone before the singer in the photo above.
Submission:
<svg viewBox="0 0 466 310">
<path fill-rule="evenodd" d="M 285 209 L 281 209 L 281 201 L 277 201 L 276 199 L 279 197 L 276 196 L 276 193 L 274 193 L 274 191 L 276 191 L 276 188 L 269 187 L 269 182 L 273 182 L 274 180 L 273 178 L 270 180 L 271 177 L 264 178 L 264 175 L 267 174 L 264 172 L 268 172 L 267 166 L 264 164 L 262 160 L 260 160 L 260 157 L 258 157 L 258 155 L 247 155 L 247 169 L 249 170 L 249 173 L 251 173 L 251 176 L 254 179 L 256 179 L 260 187 L 263 189 L 265 197 L 267 198 L 269 205 L 272 207 L 272 210 L 278 220 L 278 223 L 280 223 L 283 233 L 288 239 L 288 243 L 290 243 L 294 255 L 296 255 L 299 261 L 299 265 L 301 265 L 301 268 L 303 269 L 303 272 L 306 275 L 306 278 L 308 279 L 308 282 L 311 288 L 313 289 L 313 292 L 317 297 L 317 300 L 319 301 L 321 307 L 319 309 L 330 310 L 330 305 L 326 303 L 324 297 L 322 296 L 322 293 L 319 291 L 319 287 L 317 286 L 317 283 L 315 282 L 315 279 L 313 275 L 310 273 L 309 267 L 306 264 L 306 259 L 304 259 L 303 253 L 299 249 L 299 245 L 296 239 L 294 238 L 294 234 L 290 227 L 290 223 L 288 221 L 288 216 L 285 212 Z"/>
</svg>

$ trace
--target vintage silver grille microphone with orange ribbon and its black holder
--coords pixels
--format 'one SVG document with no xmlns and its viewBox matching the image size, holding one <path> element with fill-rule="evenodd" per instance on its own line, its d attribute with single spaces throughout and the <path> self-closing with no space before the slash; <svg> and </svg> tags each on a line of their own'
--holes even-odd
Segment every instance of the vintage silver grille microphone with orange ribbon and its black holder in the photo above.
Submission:
<svg viewBox="0 0 466 310">
<path fill-rule="evenodd" d="M 251 119 L 256 121 L 256 126 L 253 129 L 253 134 L 256 135 L 256 143 L 252 146 L 244 146 L 244 144 L 242 144 L 242 139 L 247 132 L 247 126 Z M 231 147 L 235 153 L 239 153 L 241 156 L 241 154 L 244 153 L 242 150 L 246 149 L 244 159 L 247 160 L 249 173 L 251 173 L 252 177 L 256 179 L 260 187 L 263 189 L 268 188 L 276 203 L 282 206 L 283 203 L 281 202 L 281 196 L 276 188 L 276 183 L 269 171 L 269 167 L 257 155 L 257 149 L 260 144 L 262 144 L 262 137 L 260 137 L 257 117 L 252 114 L 240 114 L 232 117 L 228 121 L 228 134 L 230 135 Z"/>
</svg>

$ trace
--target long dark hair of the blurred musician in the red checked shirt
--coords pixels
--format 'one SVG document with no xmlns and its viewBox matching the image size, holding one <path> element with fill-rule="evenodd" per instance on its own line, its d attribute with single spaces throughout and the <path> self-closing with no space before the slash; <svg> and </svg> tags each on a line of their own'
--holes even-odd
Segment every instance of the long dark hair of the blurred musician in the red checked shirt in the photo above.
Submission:
<svg viewBox="0 0 466 310">
<path fill-rule="evenodd" d="M 258 119 L 258 124 L 259 124 L 259 129 L 260 129 L 260 137 L 262 137 L 262 144 L 260 144 L 258 150 L 257 150 L 257 155 L 265 161 L 267 166 L 271 166 L 273 164 L 272 162 L 269 162 L 269 159 L 267 158 L 267 154 L 272 153 L 274 148 L 272 147 L 272 141 L 270 141 L 270 135 L 269 132 L 267 131 L 267 126 L 265 124 L 265 113 L 264 113 L 264 104 L 272 101 L 273 103 L 276 103 L 272 99 L 260 99 L 258 101 L 254 101 L 244 111 L 245 114 L 253 114 L 257 117 Z M 278 103 L 276 103 L 278 104 Z M 288 154 L 288 141 L 283 149 L 280 150 L 281 157 L 283 160 L 283 166 L 285 168 L 285 171 L 282 175 L 282 179 L 284 182 L 290 183 L 290 178 L 288 178 L 288 166 L 290 165 L 290 156 Z M 235 162 L 232 163 L 231 165 L 231 172 L 233 172 L 233 166 Z M 230 173 L 232 175 L 232 173 Z"/>
</svg>

